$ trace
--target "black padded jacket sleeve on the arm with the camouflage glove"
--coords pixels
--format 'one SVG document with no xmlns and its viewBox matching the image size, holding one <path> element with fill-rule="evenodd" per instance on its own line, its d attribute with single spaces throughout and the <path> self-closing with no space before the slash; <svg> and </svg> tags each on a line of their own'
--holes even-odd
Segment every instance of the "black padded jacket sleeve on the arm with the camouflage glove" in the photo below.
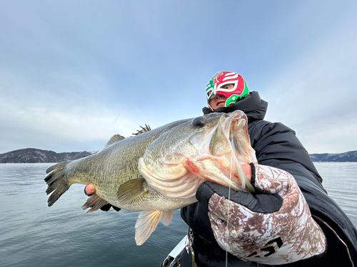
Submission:
<svg viewBox="0 0 357 267">
<path fill-rule="evenodd" d="M 296 179 L 313 218 L 326 235 L 328 249 L 323 259 L 328 263 L 326 266 L 353 266 L 351 261 L 357 266 L 356 228 L 328 197 L 318 171 L 295 132 L 280 122 L 257 121 L 250 127 L 253 127 L 249 131 L 251 146 L 256 150 L 258 164 L 283 169 Z"/>
</svg>

